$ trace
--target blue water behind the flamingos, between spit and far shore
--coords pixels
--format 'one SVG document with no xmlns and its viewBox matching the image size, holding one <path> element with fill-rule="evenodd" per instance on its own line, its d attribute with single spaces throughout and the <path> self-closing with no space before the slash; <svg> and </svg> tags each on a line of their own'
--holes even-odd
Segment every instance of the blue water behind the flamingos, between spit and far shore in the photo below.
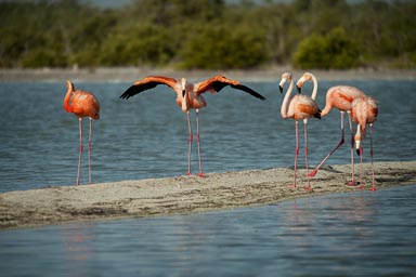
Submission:
<svg viewBox="0 0 416 277">
<path fill-rule="evenodd" d="M 338 83 L 320 83 L 320 107 L 324 106 L 326 89 Z M 375 160 L 414 160 L 416 94 L 410 92 L 416 81 L 346 83 L 355 84 L 379 100 Z M 206 95 L 208 107 L 200 113 L 200 135 L 203 166 L 207 173 L 292 166 L 295 123 L 281 119 L 283 95 L 277 81 L 247 84 L 268 101 L 261 102 L 231 89 L 218 95 Z M 119 100 L 129 85 L 76 83 L 94 92 L 101 102 L 101 119 L 93 122 L 93 182 L 184 174 L 187 170 L 187 126 L 185 115 L 174 102 L 174 93 L 159 85 L 128 101 Z M 307 87 L 303 92 L 310 90 L 311 87 Z M 65 92 L 64 81 L 0 83 L 0 192 L 75 184 L 78 120 L 62 107 Z M 309 121 L 312 166 L 338 143 L 339 118 L 339 113 L 333 110 L 322 120 Z M 87 127 L 84 120 L 84 141 Z M 193 169 L 197 172 L 195 150 L 196 147 Z M 368 158 L 364 156 L 365 161 Z M 303 162 L 302 156 L 300 161 Z M 87 162 L 84 155 L 83 184 L 88 182 Z M 348 146 L 328 160 L 328 164 L 347 162 Z"/>
</svg>

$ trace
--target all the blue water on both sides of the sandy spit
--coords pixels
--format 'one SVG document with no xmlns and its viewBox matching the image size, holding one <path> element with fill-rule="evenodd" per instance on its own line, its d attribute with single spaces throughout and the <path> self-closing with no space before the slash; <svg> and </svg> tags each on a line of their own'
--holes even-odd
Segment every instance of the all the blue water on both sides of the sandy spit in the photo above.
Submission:
<svg viewBox="0 0 416 277">
<path fill-rule="evenodd" d="M 326 89 L 338 83 L 320 83 L 320 107 Z M 416 95 L 410 92 L 416 82 L 344 83 L 379 100 L 375 160 L 414 160 Z M 294 121 L 280 118 L 277 81 L 246 84 L 268 101 L 233 90 L 206 96 L 200 123 L 208 174 L 292 166 Z M 93 182 L 185 173 L 187 127 L 174 93 L 160 87 L 119 100 L 128 85 L 76 83 L 101 102 Z M 64 81 L 0 83 L 0 192 L 75 184 L 78 120 L 62 108 L 65 91 Z M 315 164 L 339 141 L 339 113 L 309 122 Z M 196 155 L 193 161 L 196 172 Z M 343 146 L 327 164 L 347 162 Z M 416 276 L 415 196 L 412 185 L 183 216 L 1 230 L 0 276 Z"/>
</svg>

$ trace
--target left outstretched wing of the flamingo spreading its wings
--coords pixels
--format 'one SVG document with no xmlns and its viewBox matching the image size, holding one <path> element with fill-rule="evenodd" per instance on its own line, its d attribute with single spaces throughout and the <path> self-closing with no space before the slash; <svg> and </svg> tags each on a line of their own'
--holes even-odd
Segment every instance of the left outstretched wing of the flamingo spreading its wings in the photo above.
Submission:
<svg viewBox="0 0 416 277">
<path fill-rule="evenodd" d="M 120 98 L 128 100 L 138 93 L 155 88 L 158 84 L 166 84 L 174 90 L 174 85 L 178 83 L 177 79 L 165 76 L 148 76 L 140 81 L 134 82 L 125 93 L 121 94 Z"/>
</svg>

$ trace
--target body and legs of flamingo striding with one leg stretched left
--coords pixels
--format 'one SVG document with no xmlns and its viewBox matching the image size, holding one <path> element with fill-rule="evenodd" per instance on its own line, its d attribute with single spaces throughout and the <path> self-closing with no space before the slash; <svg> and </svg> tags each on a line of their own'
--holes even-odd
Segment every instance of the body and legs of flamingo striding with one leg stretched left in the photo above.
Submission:
<svg viewBox="0 0 416 277">
<path fill-rule="evenodd" d="M 349 124 L 350 124 L 350 133 L 351 133 L 351 175 L 352 180 L 349 182 L 349 185 L 355 185 L 354 180 L 354 137 L 352 133 L 352 123 L 351 123 L 351 103 L 354 98 L 365 95 L 364 92 L 359 90 L 358 88 L 350 85 L 337 85 L 329 88 L 326 92 L 326 104 L 325 108 L 321 113 L 321 117 L 325 117 L 329 114 L 333 107 L 336 107 L 341 113 L 341 140 L 338 145 L 321 161 L 320 164 L 309 174 L 310 176 L 314 176 L 317 173 L 317 170 L 322 164 L 344 143 L 344 133 L 343 133 L 343 115 L 347 111 Z"/>
</svg>

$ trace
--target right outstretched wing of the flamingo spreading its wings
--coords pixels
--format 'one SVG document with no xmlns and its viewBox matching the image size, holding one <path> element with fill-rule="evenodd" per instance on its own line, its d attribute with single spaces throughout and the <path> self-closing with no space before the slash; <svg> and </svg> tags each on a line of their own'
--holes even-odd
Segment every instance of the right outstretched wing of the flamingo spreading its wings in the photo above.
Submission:
<svg viewBox="0 0 416 277">
<path fill-rule="evenodd" d="M 231 88 L 233 88 L 235 90 L 245 91 L 257 98 L 265 100 L 265 97 L 263 95 L 261 95 L 260 93 L 253 91 L 252 89 L 250 89 L 244 84 L 240 84 L 238 81 L 227 79 L 222 75 L 214 76 L 214 77 L 212 77 L 212 78 L 210 78 L 204 82 L 198 83 L 198 85 L 197 85 L 198 89 L 197 89 L 196 93 L 200 94 L 200 93 L 206 92 L 206 91 L 220 92 L 226 85 L 230 85 Z"/>
</svg>

